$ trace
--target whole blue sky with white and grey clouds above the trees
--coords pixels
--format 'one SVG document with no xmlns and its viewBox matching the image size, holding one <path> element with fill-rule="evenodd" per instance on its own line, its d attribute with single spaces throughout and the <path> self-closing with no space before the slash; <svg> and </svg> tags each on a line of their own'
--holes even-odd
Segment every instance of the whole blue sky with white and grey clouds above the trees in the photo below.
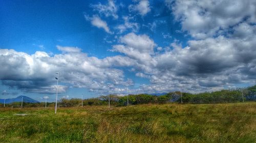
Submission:
<svg viewBox="0 0 256 143">
<path fill-rule="evenodd" d="M 0 1 L 0 98 L 211 92 L 256 78 L 256 1 Z"/>
</svg>

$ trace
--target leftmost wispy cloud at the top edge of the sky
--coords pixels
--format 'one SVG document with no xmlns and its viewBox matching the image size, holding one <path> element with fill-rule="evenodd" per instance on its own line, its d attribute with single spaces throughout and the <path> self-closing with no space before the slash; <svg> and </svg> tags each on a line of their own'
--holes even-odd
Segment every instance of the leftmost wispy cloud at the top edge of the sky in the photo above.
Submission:
<svg viewBox="0 0 256 143">
<path fill-rule="evenodd" d="M 108 4 L 102 5 L 101 3 L 97 5 L 91 5 L 94 11 L 99 12 L 101 15 L 105 15 L 106 17 L 112 16 L 114 19 L 118 18 L 117 10 L 118 7 L 115 5 L 114 1 L 109 0 Z"/>
</svg>

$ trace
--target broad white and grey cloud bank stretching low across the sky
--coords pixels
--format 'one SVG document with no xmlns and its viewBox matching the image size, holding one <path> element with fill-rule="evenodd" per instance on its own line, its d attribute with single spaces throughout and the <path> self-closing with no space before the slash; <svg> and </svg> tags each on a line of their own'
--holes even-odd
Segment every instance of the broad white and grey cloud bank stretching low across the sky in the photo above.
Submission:
<svg viewBox="0 0 256 143">
<path fill-rule="evenodd" d="M 104 59 L 89 57 L 82 52 L 64 52 L 49 56 L 37 51 L 26 54 L 0 49 L 0 79 L 2 84 L 25 92 L 56 93 L 54 72 L 59 71 L 60 83 L 69 87 L 87 88 L 102 93 L 106 83 L 122 85 L 113 92 L 119 94 L 168 92 L 182 89 L 189 92 L 214 91 L 236 83 L 252 83 L 256 74 L 255 25 L 241 23 L 230 37 L 218 36 L 190 40 L 186 47 L 172 43 L 172 50 L 154 52 L 155 42 L 147 35 L 130 33 L 119 38 L 114 51 L 124 55 Z M 242 33 L 241 33 L 242 32 Z M 178 42 L 178 41 L 177 41 Z M 150 79 L 138 89 L 119 67 L 130 67 L 136 76 Z M 60 85 L 59 92 L 68 87 Z"/>
</svg>

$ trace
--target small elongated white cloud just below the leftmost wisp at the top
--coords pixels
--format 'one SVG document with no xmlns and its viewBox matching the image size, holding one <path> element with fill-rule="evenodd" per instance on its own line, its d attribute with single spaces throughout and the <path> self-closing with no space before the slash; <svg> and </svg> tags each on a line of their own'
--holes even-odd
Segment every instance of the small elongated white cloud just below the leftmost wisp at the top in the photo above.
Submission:
<svg viewBox="0 0 256 143">
<path fill-rule="evenodd" d="M 88 15 L 84 15 L 84 17 L 87 21 L 91 21 L 92 25 L 98 28 L 103 28 L 106 33 L 112 34 L 106 21 L 103 21 L 99 16 L 94 15 L 93 17 L 89 17 Z"/>
</svg>

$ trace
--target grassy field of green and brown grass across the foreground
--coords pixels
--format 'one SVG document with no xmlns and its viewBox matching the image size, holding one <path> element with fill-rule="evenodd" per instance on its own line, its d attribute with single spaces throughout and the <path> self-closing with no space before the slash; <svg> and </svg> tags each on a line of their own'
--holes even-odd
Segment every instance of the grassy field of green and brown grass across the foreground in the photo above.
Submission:
<svg viewBox="0 0 256 143">
<path fill-rule="evenodd" d="M 256 102 L 0 108 L 0 142 L 256 142 Z"/>
</svg>

